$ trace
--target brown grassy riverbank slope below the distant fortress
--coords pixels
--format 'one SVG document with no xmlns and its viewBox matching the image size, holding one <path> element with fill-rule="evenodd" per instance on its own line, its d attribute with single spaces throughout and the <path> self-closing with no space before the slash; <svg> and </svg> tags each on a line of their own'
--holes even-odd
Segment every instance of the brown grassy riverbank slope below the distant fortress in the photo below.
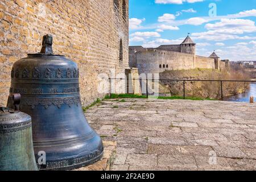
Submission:
<svg viewBox="0 0 256 182">
<path fill-rule="evenodd" d="M 160 80 L 248 80 L 243 72 L 220 72 L 216 69 L 191 69 L 180 71 L 166 71 L 160 73 Z M 183 82 L 161 81 L 161 84 L 170 90 L 171 96 L 183 96 Z M 246 82 L 223 82 L 222 93 L 224 97 L 234 96 L 245 92 L 249 88 Z M 220 82 L 187 81 L 185 82 L 185 95 L 187 97 L 221 98 Z"/>
</svg>

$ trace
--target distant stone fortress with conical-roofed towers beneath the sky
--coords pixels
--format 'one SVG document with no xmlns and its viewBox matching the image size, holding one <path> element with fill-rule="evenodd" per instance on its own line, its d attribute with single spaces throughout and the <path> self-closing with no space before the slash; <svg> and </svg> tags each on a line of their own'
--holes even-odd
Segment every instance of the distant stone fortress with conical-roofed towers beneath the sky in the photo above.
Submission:
<svg viewBox="0 0 256 182">
<path fill-rule="evenodd" d="M 179 45 L 162 45 L 158 48 L 129 47 L 129 65 L 139 73 L 161 73 L 182 69 L 218 69 L 229 71 L 229 60 L 221 61 L 215 52 L 210 57 L 197 56 L 196 44 L 189 37 Z"/>
</svg>

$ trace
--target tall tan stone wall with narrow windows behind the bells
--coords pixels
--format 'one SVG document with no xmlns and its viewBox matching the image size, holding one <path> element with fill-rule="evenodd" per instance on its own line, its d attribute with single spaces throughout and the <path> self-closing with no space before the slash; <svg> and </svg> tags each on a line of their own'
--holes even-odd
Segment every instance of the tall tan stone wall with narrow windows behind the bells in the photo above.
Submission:
<svg viewBox="0 0 256 182">
<path fill-rule="evenodd" d="M 124 73 L 129 65 L 129 2 L 125 11 L 122 2 L 117 7 L 113 0 L 1 0 L 0 105 L 6 105 L 13 63 L 39 52 L 44 34 L 53 35 L 56 54 L 79 64 L 82 104 L 103 97 L 98 73 Z"/>
</svg>

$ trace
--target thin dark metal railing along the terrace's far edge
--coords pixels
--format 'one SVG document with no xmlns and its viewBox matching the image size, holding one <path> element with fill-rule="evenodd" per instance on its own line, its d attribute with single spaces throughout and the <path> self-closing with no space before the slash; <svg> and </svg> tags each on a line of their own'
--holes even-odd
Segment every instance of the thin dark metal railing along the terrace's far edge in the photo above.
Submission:
<svg viewBox="0 0 256 182">
<path fill-rule="evenodd" d="M 109 80 L 127 80 L 129 81 L 130 79 L 129 78 L 109 78 Z M 186 82 L 197 82 L 197 81 L 200 81 L 200 82 L 220 82 L 220 85 L 221 85 L 221 100 L 223 101 L 224 100 L 224 94 L 223 94 L 223 83 L 224 82 L 256 82 L 256 80 L 183 80 L 183 79 L 143 79 L 143 78 L 133 78 L 131 80 L 139 80 L 139 81 L 143 81 L 143 80 L 146 80 L 146 96 L 148 98 L 148 80 L 150 81 L 180 81 L 180 82 L 183 82 L 183 99 L 185 99 L 185 83 Z M 111 92 L 110 92 L 111 94 Z"/>
</svg>

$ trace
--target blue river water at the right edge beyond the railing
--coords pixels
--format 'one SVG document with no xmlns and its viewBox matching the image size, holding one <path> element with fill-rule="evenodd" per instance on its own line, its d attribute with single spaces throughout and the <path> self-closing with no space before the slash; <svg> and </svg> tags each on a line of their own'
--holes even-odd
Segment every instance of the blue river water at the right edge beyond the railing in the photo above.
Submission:
<svg viewBox="0 0 256 182">
<path fill-rule="evenodd" d="M 250 102 L 250 97 L 254 97 L 254 101 L 256 101 L 256 82 L 252 82 L 250 84 L 250 89 L 245 93 L 238 94 L 237 96 L 226 97 L 225 101 L 233 101 L 233 102 Z"/>
</svg>

